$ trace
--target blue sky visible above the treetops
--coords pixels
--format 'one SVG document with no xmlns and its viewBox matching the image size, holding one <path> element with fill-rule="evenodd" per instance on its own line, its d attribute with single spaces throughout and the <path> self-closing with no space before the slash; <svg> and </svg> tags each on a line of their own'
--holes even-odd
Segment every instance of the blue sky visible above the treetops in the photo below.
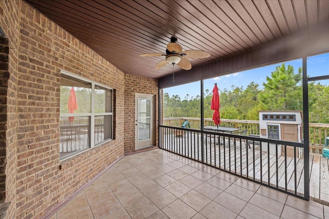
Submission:
<svg viewBox="0 0 329 219">
<path fill-rule="evenodd" d="M 284 62 L 286 66 L 291 65 L 294 67 L 295 73 L 298 72 L 298 68 L 302 67 L 302 59 L 296 59 L 294 61 Z M 282 63 L 269 65 L 265 67 L 250 69 L 246 71 L 236 72 L 220 77 L 213 77 L 204 80 L 204 89 L 212 91 L 214 83 L 217 83 L 217 87 L 220 90 L 232 90 L 232 85 L 235 87 L 247 87 L 250 82 L 259 84 L 260 89 L 263 89 L 263 83 L 266 83 L 266 76 L 270 76 L 271 72 L 276 70 L 276 66 Z M 329 53 L 308 57 L 307 59 L 307 75 L 320 76 L 329 75 Z M 327 80 L 321 84 L 327 84 Z M 193 82 L 185 85 L 179 85 L 171 88 L 163 89 L 165 93 L 169 93 L 169 96 L 179 95 L 184 99 L 187 94 L 189 98 L 200 94 L 200 82 Z"/>
</svg>

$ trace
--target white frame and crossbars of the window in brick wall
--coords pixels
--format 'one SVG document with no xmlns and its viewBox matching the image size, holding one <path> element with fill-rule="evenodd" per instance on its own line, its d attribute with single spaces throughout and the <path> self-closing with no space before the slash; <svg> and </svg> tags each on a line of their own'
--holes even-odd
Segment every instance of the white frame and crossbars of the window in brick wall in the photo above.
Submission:
<svg viewBox="0 0 329 219">
<path fill-rule="evenodd" d="M 112 141 L 113 140 L 113 124 L 114 124 L 114 115 L 113 115 L 113 112 L 114 112 L 114 89 L 109 87 L 109 86 L 106 86 L 106 85 L 103 85 L 103 84 L 100 84 L 100 83 L 97 83 L 95 81 L 92 81 L 90 79 L 87 79 L 85 77 L 82 77 L 82 76 L 79 76 L 79 75 L 76 75 L 76 74 L 73 74 L 71 72 L 68 72 L 68 71 L 65 71 L 63 69 L 61 69 L 61 77 L 62 75 L 65 75 L 65 76 L 69 76 L 69 77 L 73 77 L 73 78 L 76 78 L 76 79 L 79 79 L 80 81 L 83 81 L 83 82 L 86 82 L 86 83 L 90 83 L 91 84 L 91 89 L 92 89 L 92 99 L 91 99 L 91 112 L 90 113 L 60 113 L 60 118 L 61 117 L 69 117 L 69 116 L 88 116 L 90 117 L 90 147 L 88 147 L 87 149 L 83 149 L 83 150 L 79 150 L 79 151 L 75 151 L 75 152 L 72 152 L 70 154 L 67 154 L 67 155 L 64 155 L 62 157 L 60 157 L 60 160 L 64 160 L 68 157 L 71 157 L 71 156 L 74 156 L 74 155 L 77 155 L 83 151 L 86 151 L 88 149 L 91 149 L 91 148 L 94 148 L 94 147 L 97 147 L 97 146 L 100 146 L 102 144 L 105 144 L 109 141 Z M 102 87 L 104 89 L 108 89 L 108 90 L 112 90 L 112 99 L 111 99 L 111 102 L 112 102 L 112 110 L 111 112 L 98 112 L 98 113 L 95 113 L 95 85 L 96 86 L 99 86 L 99 87 Z M 104 140 L 103 142 L 95 145 L 95 116 L 105 116 L 105 115 L 111 115 L 112 116 L 112 124 L 111 124 L 111 128 L 112 128 L 112 138 L 110 139 L 107 139 L 107 140 Z"/>
</svg>

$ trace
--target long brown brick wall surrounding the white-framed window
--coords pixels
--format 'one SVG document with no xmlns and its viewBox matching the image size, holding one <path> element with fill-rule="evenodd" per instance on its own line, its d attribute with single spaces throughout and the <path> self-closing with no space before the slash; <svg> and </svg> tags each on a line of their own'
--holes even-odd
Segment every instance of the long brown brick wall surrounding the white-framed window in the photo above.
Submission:
<svg viewBox="0 0 329 219">
<path fill-rule="evenodd" d="M 40 218 L 133 150 L 134 141 L 124 149 L 123 127 L 133 124 L 126 120 L 134 120 L 135 109 L 125 96 L 156 95 L 157 81 L 124 74 L 24 1 L 0 1 L 0 13 L 10 48 L 7 136 L 1 136 L 7 144 L 7 218 Z M 59 160 L 61 69 L 114 88 L 116 101 L 115 140 L 64 161 Z"/>
</svg>

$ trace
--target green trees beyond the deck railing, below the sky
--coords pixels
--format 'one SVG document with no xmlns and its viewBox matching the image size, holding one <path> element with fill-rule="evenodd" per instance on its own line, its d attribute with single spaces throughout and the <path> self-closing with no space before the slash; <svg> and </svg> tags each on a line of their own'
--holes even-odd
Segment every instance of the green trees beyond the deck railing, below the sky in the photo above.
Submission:
<svg viewBox="0 0 329 219">
<path fill-rule="evenodd" d="M 308 84 L 308 107 L 310 123 L 329 123 L 329 87 L 320 83 Z M 261 89 L 259 84 L 250 82 L 246 88 L 223 89 L 220 93 L 221 118 L 231 120 L 259 120 L 259 111 L 303 110 L 302 68 L 295 71 L 293 66 L 283 63 L 266 77 Z M 212 91 L 205 90 L 204 117 L 211 118 Z M 163 94 L 163 116 L 200 117 L 200 95 Z"/>
</svg>

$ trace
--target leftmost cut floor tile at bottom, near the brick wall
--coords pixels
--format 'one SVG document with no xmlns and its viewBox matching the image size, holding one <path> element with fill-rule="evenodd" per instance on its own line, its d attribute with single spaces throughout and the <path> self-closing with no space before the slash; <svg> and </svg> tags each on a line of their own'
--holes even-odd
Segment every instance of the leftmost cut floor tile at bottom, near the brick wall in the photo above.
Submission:
<svg viewBox="0 0 329 219">
<path fill-rule="evenodd" d="M 56 213 L 57 218 L 73 219 L 73 218 L 94 218 L 92 211 L 89 208 L 84 192 L 80 192 L 72 198 Z"/>
</svg>

